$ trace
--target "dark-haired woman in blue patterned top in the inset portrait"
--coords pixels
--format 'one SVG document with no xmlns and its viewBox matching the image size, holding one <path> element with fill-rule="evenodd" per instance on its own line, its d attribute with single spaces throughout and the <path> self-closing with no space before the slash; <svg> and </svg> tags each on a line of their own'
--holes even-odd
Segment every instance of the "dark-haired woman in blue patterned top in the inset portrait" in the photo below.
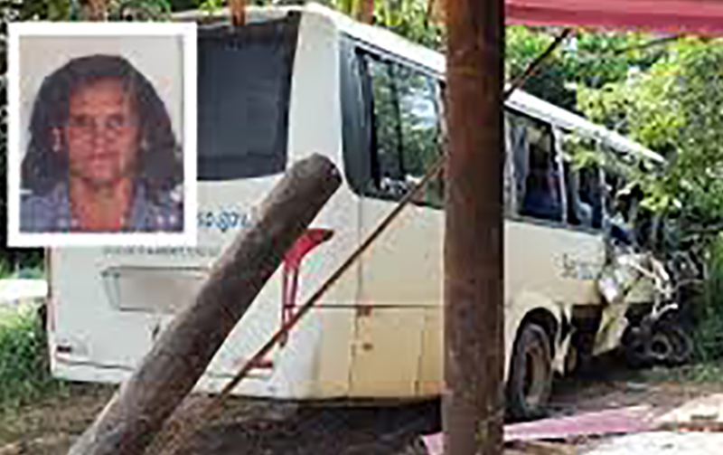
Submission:
<svg viewBox="0 0 723 455">
<path fill-rule="evenodd" d="M 23 232 L 179 232 L 183 160 L 153 86 L 118 56 L 42 83 L 23 158 Z"/>
</svg>

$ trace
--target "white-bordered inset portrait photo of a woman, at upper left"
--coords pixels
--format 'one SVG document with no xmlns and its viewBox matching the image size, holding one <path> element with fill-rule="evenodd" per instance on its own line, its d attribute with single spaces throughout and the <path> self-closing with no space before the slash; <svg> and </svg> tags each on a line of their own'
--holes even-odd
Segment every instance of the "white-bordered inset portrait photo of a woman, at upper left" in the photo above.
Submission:
<svg viewBox="0 0 723 455">
<path fill-rule="evenodd" d="M 8 33 L 8 244 L 195 245 L 195 24 Z"/>
</svg>

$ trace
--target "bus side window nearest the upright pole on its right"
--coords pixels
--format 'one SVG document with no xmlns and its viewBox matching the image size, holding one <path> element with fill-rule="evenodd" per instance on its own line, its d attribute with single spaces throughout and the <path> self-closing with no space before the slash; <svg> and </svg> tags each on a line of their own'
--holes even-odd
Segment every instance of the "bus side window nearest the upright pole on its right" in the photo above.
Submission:
<svg viewBox="0 0 723 455">
<path fill-rule="evenodd" d="M 562 221 L 560 180 L 552 128 L 529 120 L 526 134 L 528 172 L 521 213 L 543 220 Z"/>
</svg>

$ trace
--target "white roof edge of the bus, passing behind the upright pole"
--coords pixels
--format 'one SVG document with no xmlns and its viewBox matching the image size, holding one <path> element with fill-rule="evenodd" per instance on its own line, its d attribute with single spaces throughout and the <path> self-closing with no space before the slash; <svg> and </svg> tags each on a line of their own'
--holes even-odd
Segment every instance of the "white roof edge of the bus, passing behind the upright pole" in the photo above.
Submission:
<svg viewBox="0 0 723 455">
<path fill-rule="evenodd" d="M 309 3 L 287 6 L 249 6 L 247 8 L 249 22 L 281 18 L 292 11 L 321 15 L 343 33 L 347 33 L 355 39 L 396 53 L 399 57 L 426 66 L 440 75 L 445 72 L 445 56 L 440 52 L 412 43 L 398 34 L 379 26 L 362 24 L 346 14 L 339 13 L 323 5 Z M 230 10 L 225 7 L 219 10 L 218 13 L 213 14 L 211 18 L 220 20 L 228 18 L 229 15 Z M 204 18 L 208 19 L 209 17 L 209 14 L 198 10 L 174 14 L 174 19 L 178 21 L 196 21 Z M 574 132 L 580 137 L 600 141 L 618 152 L 640 156 L 657 164 L 665 163 L 665 158 L 627 137 L 596 125 L 587 118 L 578 116 L 566 109 L 561 109 L 548 101 L 540 100 L 540 98 L 523 90 L 514 90 L 505 105 L 510 109 L 518 110 L 533 118 L 539 118 L 558 128 Z"/>
</svg>

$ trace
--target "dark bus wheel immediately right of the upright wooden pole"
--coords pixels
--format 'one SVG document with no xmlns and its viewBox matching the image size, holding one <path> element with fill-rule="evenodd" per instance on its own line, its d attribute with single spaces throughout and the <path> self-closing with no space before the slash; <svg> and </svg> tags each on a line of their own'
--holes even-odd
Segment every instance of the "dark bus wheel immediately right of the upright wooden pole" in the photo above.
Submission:
<svg viewBox="0 0 723 455">
<path fill-rule="evenodd" d="M 527 324 L 517 337 L 507 382 L 507 411 L 513 420 L 543 416 L 552 390 L 549 336 L 537 324 Z"/>
</svg>

